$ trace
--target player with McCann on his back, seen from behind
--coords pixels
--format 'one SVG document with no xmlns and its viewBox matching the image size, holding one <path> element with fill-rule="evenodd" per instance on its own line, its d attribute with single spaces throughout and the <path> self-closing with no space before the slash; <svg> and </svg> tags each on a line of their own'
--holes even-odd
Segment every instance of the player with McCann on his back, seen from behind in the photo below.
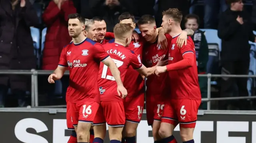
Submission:
<svg viewBox="0 0 256 143">
<path fill-rule="evenodd" d="M 118 66 L 122 81 L 129 66 L 132 66 L 133 69 L 144 76 L 154 73 L 155 69 L 155 67 L 146 68 L 142 65 L 140 56 L 126 48 L 132 40 L 132 31 L 133 27 L 130 24 L 116 24 L 114 27 L 115 42 L 103 45 L 106 52 Z M 106 135 L 106 125 L 104 123 L 106 122 L 109 126 L 110 143 L 121 143 L 122 130 L 125 124 L 124 105 L 122 98 L 113 90 L 116 88 L 114 78 L 104 64 L 100 64 L 98 87 L 101 94 L 101 106 L 97 113 L 98 117 L 94 120 L 94 125 L 96 125 L 94 126 L 94 143 L 103 143 Z"/>
</svg>

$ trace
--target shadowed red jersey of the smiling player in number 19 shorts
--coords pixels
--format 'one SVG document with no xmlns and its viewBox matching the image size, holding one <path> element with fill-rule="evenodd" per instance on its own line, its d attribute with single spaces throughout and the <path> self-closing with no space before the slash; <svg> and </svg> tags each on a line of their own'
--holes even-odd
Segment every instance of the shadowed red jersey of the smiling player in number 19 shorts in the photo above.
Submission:
<svg viewBox="0 0 256 143">
<path fill-rule="evenodd" d="M 154 67 L 162 57 L 162 61 L 168 59 L 168 56 L 166 55 L 168 53 L 168 48 L 171 45 L 172 36 L 170 34 L 165 34 L 165 36 L 168 43 L 167 49 L 162 49 L 160 46 L 157 47 L 157 41 L 155 43 L 147 43 L 145 45 L 143 54 L 143 64 L 146 67 Z M 167 76 L 167 72 L 160 74 L 160 76 L 156 76 L 155 74 L 148 76 L 146 81 L 147 93 L 150 93 L 154 96 L 161 96 L 162 92 L 166 90 L 166 84 L 163 83 L 166 83 L 165 81 Z"/>
</svg>

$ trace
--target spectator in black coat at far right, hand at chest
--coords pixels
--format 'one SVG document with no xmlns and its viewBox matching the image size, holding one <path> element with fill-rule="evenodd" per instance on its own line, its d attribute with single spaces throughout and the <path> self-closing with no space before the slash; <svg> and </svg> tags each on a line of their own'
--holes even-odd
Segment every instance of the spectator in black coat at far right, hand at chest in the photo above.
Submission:
<svg viewBox="0 0 256 143">
<path fill-rule="evenodd" d="M 242 0 L 227 0 L 230 8 L 222 13 L 218 26 L 218 37 L 222 39 L 222 74 L 248 74 L 250 45 L 256 42 L 252 32 L 250 16 L 243 11 Z M 237 84 L 239 96 L 248 96 L 247 78 L 222 78 L 221 97 L 233 96 L 233 84 Z M 221 109 L 248 109 L 246 100 L 220 102 Z"/>
</svg>

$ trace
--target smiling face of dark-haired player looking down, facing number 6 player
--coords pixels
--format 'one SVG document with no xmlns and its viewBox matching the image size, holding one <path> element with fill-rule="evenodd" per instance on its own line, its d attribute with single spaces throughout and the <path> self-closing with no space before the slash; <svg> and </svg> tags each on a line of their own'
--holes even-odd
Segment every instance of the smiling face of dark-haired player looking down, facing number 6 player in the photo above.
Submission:
<svg viewBox="0 0 256 143">
<path fill-rule="evenodd" d="M 152 41 L 155 37 L 156 33 L 156 25 L 154 24 L 142 24 L 139 25 L 139 29 L 142 37 L 145 38 L 146 41 Z"/>
</svg>

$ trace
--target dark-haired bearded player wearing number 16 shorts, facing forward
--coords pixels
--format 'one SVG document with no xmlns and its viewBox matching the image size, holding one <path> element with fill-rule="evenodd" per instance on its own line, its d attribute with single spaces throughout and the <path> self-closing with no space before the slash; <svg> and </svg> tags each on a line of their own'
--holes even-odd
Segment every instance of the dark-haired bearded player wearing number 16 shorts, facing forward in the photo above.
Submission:
<svg viewBox="0 0 256 143">
<path fill-rule="evenodd" d="M 72 42 L 63 48 L 59 65 L 54 73 L 48 77 L 48 82 L 54 83 L 54 80 L 59 80 L 68 68 L 70 72 L 70 83 L 67 89 L 69 118 L 76 130 L 77 142 L 88 143 L 90 127 L 100 103 L 97 86 L 100 61 L 110 68 L 118 84 L 118 92 L 122 96 L 126 96 L 127 91 L 122 85 L 116 64 L 102 45 L 86 38 L 82 33 L 85 29 L 84 18 L 81 18 L 79 14 L 72 14 L 69 18 L 68 31 L 72 37 Z M 88 33 L 93 33 L 89 29 Z"/>
</svg>

